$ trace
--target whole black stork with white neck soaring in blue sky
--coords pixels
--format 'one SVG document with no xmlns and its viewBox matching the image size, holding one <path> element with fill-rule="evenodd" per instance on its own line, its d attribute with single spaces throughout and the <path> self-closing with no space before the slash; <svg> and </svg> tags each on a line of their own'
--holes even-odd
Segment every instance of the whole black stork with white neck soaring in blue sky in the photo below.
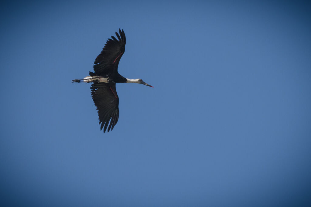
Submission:
<svg viewBox="0 0 311 207">
<path fill-rule="evenodd" d="M 119 34 L 117 32 L 115 34 L 118 39 L 111 36 L 96 57 L 93 65 L 95 73 L 89 72 L 89 76 L 84 79 L 72 80 L 72 83 L 92 83 L 91 95 L 98 112 L 100 130 L 104 128 L 104 133 L 107 127 L 107 132 L 112 130 L 119 118 L 119 97 L 116 83 L 141 83 L 152 87 L 142 79 L 124 78 L 118 73 L 119 61 L 125 51 L 126 38 L 123 29 L 119 29 Z"/>
</svg>

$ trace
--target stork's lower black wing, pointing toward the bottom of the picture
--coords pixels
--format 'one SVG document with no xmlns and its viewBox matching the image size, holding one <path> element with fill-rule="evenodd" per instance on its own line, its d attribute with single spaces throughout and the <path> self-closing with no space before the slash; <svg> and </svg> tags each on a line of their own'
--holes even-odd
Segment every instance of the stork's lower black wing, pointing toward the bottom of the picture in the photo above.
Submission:
<svg viewBox="0 0 311 207">
<path fill-rule="evenodd" d="M 93 83 L 91 94 L 98 112 L 100 130 L 104 127 L 104 133 L 110 124 L 108 132 L 114 128 L 119 119 L 119 97 L 115 83 Z"/>
</svg>

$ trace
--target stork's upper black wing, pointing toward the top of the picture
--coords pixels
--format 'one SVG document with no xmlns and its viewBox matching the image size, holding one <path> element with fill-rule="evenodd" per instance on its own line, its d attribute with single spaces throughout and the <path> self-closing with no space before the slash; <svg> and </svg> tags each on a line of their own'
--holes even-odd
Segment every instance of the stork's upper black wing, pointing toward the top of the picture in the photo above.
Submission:
<svg viewBox="0 0 311 207">
<path fill-rule="evenodd" d="M 125 34 L 119 29 L 120 35 L 116 32 L 116 39 L 108 39 L 101 53 L 96 57 L 94 62 L 94 71 L 98 75 L 113 73 L 118 71 L 119 61 L 125 51 Z"/>
</svg>

